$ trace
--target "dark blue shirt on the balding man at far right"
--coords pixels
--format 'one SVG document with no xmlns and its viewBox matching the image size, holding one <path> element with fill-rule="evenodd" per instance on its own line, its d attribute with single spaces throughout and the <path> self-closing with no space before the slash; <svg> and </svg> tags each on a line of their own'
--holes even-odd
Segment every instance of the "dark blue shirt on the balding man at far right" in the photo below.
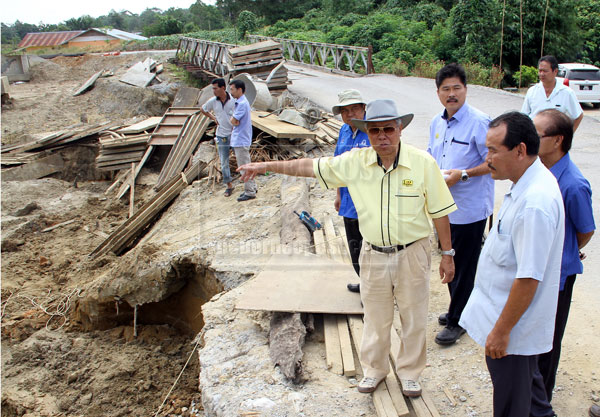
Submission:
<svg viewBox="0 0 600 417">
<path fill-rule="evenodd" d="M 581 274 L 583 264 L 579 259 L 577 233 L 589 233 L 596 229 L 592 210 L 592 188 L 571 161 L 569 154 L 560 158 L 550 172 L 558 180 L 565 204 L 565 245 L 560 268 L 560 290 L 565 288 L 569 275 Z"/>
</svg>

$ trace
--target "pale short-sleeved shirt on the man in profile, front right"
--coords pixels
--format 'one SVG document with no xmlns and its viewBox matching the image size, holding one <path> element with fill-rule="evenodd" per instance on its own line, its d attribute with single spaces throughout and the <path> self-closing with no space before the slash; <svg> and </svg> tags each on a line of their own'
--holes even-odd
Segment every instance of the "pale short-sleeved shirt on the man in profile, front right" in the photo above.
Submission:
<svg viewBox="0 0 600 417">
<path fill-rule="evenodd" d="M 539 281 L 531 304 L 510 333 L 509 355 L 552 349 L 565 213 L 554 175 L 537 159 L 513 184 L 477 264 L 475 288 L 459 324 L 485 347 L 515 279 Z"/>
</svg>

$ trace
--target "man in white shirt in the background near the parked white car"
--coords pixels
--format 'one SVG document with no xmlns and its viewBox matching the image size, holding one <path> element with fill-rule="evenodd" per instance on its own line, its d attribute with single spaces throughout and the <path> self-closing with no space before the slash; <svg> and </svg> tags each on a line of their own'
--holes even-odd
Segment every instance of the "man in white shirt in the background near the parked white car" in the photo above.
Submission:
<svg viewBox="0 0 600 417">
<path fill-rule="evenodd" d="M 552 55 L 541 57 L 538 61 L 540 82 L 527 90 L 521 113 L 533 119 L 542 110 L 560 110 L 573 119 L 573 131 L 576 131 L 583 119 L 583 110 L 573 90 L 556 82 L 557 74 L 556 58 Z"/>
</svg>

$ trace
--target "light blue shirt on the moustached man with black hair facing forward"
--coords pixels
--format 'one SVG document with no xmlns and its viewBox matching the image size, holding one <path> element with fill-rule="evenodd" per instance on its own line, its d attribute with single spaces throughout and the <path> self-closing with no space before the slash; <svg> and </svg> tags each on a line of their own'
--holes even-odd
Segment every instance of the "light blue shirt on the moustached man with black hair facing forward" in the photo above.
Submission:
<svg viewBox="0 0 600 417">
<path fill-rule="evenodd" d="M 466 102 L 450 119 L 446 110 L 431 121 L 429 152 L 440 169 L 469 169 L 487 156 L 485 137 L 490 117 Z M 450 187 L 458 210 L 450 213 L 452 224 L 469 224 L 486 219 L 494 209 L 494 180 L 489 174 L 459 181 Z"/>
</svg>

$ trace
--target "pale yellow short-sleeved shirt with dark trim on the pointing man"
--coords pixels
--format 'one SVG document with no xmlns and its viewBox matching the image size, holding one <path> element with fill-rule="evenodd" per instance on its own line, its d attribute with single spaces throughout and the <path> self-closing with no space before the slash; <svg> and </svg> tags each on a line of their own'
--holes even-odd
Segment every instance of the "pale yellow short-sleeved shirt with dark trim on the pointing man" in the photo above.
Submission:
<svg viewBox="0 0 600 417">
<path fill-rule="evenodd" d="M 360 233 L 373 245 L 405 245 L 427 237 L 429 217 L 456 210 L 433 157 L 405 143 L 387 172 L 370 147 L 315 159 L 313 170 L 326 189 L 348 187 Z"/>
</svg>

